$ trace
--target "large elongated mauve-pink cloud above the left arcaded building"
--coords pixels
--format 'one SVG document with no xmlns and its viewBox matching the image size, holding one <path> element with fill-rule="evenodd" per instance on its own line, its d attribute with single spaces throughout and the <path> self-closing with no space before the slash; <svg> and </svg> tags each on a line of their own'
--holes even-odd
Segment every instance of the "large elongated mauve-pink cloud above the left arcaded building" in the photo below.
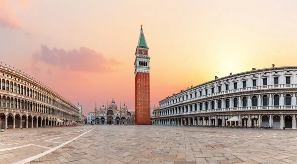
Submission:
<svg viewBox="0 0 297 164">
<path fill-rule="evenodd" d="M 41 45 L 40 50 L 33 55 L 32 68 L 36 69 L 36 64 L 44 62 L 52 66 L 70 71 L 84 72 L 111 72 L 111 66 L 119 65 L 121 62 L 113 57 L 107 58 L 105 55 L 87 47 L 79 49 L 49 49 L 46 45 Z"/>
</svg>

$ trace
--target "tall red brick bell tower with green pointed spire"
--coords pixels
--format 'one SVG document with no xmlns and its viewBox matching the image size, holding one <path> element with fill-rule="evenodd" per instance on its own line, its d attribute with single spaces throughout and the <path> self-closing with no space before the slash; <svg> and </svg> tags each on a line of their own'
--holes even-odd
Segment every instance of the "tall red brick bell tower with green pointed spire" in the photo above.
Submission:
<svg viewBox="0 0 297 164">
<path fill-rule="evenodd" d="M 135 52 L 135 123 L 150 124 L 148 45 L 142 29 Z"/>
</svg>

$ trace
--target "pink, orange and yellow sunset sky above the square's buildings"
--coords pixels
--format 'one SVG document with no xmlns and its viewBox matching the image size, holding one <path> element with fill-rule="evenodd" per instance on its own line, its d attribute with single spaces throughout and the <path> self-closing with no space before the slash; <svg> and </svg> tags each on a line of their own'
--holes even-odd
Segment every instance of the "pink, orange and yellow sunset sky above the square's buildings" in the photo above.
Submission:
<svg viewBox="0 0 297 164">
<path fill-rule="evenodd" d="M 251 68 L 296 65 L 296 0 L 0 0 L 0 62 L 36 78 L 83 113 L 134 110 L 140 25 L 150 104 Z"/>
</svg>

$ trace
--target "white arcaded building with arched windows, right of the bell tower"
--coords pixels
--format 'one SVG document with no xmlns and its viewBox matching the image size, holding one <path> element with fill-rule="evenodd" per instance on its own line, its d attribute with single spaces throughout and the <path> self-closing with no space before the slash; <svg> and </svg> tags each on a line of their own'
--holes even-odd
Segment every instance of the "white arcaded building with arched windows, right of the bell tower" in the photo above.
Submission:
<svg viewBox="0 0 297 164">
<path fill-rule="evenodd" d="M 168 96 L 156 124 L 296 129 L 297 66 L 255 69 Z"/>
</svg>

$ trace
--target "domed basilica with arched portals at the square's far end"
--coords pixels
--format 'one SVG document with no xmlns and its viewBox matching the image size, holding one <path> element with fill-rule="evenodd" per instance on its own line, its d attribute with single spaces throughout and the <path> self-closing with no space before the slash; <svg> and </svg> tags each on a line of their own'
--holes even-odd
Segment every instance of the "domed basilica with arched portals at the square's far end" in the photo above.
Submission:
<svg viewBox="0 0 297 164">
<path fill-rule="evenodd" d="M 94 112 L 88 113 L 87 122 L 89 124 L 130 124 L 131 123 L 131 113 L 128 111 L 128 107 L 123 105 L 118 109 L 115 101 L 112 100 L 107 108 L 102 105 L 102 107 L 95 108 Z"/>
</svg>

